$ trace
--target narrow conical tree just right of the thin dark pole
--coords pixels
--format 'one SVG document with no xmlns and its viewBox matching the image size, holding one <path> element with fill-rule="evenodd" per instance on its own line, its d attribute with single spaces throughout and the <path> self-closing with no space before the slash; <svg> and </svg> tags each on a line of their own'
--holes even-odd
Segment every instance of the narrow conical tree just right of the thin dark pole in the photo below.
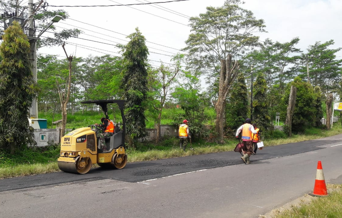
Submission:
<svg viewBox="0 0 342 218">
<path fill-rule="evenodd" d="M 268 130 L 270 122 L 266 80 L 264 74 L 259 72 L 253 84 L 253 123 L 257 123 L 260 129 Z"/>
</svg>

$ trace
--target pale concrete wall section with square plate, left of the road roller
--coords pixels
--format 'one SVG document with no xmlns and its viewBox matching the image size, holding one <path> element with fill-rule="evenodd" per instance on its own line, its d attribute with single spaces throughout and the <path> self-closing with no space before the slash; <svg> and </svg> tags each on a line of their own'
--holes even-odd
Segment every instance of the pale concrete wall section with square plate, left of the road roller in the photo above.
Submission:
<svg viewBox="0 0 342 218">
<path fill-rule="evenodd" d="M 52 141 L 60 142 L 60 129 L 35 129 L 33 133 L 38 147 L 48 146 Z"/>
</svg>

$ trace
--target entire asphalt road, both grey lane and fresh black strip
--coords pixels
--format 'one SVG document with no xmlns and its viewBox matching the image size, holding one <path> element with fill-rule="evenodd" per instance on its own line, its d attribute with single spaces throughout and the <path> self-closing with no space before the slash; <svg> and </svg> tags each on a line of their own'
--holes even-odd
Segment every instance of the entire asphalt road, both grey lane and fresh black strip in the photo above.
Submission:
<svg viewBox="0 0 342 218">
<path fill-rule="evenodd" d="M 256 218 L 311 192 L 317 161 L 342 183 L 342 134 L 258 150 L 128 163 L 0 180 L 2 217 Z"/>
</svg>

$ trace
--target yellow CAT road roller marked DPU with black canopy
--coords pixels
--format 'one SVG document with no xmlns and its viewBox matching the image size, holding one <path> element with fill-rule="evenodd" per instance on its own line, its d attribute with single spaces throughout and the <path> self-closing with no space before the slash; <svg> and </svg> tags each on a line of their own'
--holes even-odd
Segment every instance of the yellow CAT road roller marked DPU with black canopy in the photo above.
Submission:
<svg viewBox="0 0 342 218">
<path fill-rule="evenodd" d="M 61 138 L 61 152 L 57 160 L 61 171 L 86 174 L 92 164 L 100 167 L 122 169 L 127 164 L 125 153 L 125 125 L 123 114 L 124 100 L 90 100 L 81 104 L 100 105 L 105 118 L 108 117 L 107 104 L 116 103 L 121 111 L 122 123 L 115 124 L 113 136 L 106 138 L 107 150 L 102 151 L 98 133 L 103 133 L 104 128 L 96 125 L 78 128 Z"/>
</svg>

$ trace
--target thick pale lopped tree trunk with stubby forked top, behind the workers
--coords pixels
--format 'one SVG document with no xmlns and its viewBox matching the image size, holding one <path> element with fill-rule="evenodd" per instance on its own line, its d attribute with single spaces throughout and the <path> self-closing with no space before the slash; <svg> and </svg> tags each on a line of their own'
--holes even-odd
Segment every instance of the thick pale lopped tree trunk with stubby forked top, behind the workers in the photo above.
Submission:
<svg viewBox="0 0 342 218">
<path fill-rule="evenodd" d="M 232 60 L 231 54 L 228 54 L 226 59 L 221 59 L 220 62 L 219 96 L 214 106 L 216 111 L 215 130 L 218 133 L 218 137 L 223 139 L 223 118 L 224 109 L 226 107 L 226 98 L 236 78 L 240 65 L 237 60 Z"/>
</svg>

